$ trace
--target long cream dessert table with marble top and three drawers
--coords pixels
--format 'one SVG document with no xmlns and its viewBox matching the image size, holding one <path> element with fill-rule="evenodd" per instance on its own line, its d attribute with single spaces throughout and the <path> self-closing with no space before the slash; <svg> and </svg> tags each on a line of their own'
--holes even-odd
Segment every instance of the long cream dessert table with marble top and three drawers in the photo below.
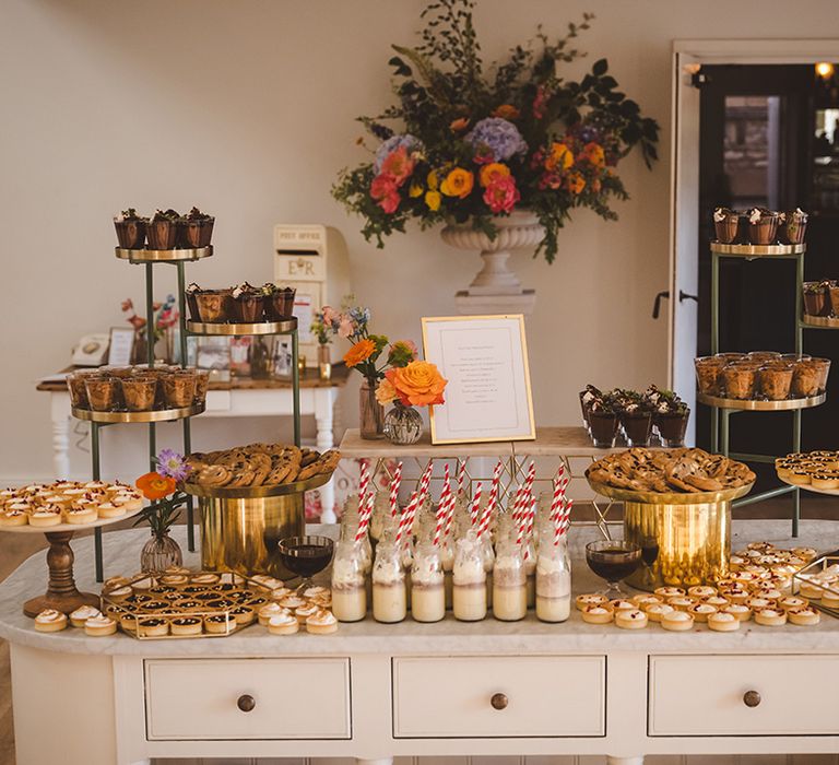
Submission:
<svg viewBox="0 0 839 765">
<path fill-rule="evenodd" d="M 601 588 L 581 554 L 596 533 L 571 530 L 575 595 Z M 804 521 L 795 543 L 824 550 L 835 533 L 830 521 Z M 785 521 L 735 521 L 733 546 L 789 545 L 788 534 Z M 146 536 L 109 534 L 108 570 L 131 573 Z M 74 548 L 80 587 L 95 588 L 90 545 Z M 646 754 L 839 751 L 839 621 L 827 616 L 733 633 L 624 631 L 572 611 L 562 624 L 449 614 L 436 624 L 368 617 L 329 636 L 255 625 L 216 639 L 91 638 L 34 631 L 22 603 L 43 576 L 39 553 L 0 585 L 19 765 L 421 754 L 607 754 L 637 765 Z"/>
</svg>

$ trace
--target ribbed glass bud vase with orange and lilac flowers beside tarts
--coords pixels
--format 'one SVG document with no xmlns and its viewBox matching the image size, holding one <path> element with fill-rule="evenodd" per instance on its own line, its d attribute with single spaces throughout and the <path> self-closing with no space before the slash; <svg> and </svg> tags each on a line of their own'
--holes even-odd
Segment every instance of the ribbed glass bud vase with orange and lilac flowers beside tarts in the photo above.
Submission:
<svg viewBox="0 0 839 765">
<path fill-rule="evenodd" d="M 184 455 L 172 449 L 163 449 L 156 462 L 157 470 L 141 475 L 135 484 L 152 503 L 134 521 L 134 526 L 149 523 L 152 531 L 152 538 L 140 553 L 140 568 L 143 572 L 162 572 L 184 563 L 180 546 L 169 537 L 169 529 L 180 517 L 179 508 L 187 499 L 177 489 L 178 483 L 189 475 L 190 467 Z"/>
</svg>

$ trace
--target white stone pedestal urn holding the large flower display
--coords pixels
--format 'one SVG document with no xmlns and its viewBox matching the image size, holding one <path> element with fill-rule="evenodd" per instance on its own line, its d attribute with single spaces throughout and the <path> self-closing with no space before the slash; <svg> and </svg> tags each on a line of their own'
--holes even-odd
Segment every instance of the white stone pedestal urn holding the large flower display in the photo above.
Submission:
<svg viewBox="0 0 839 765">
<path fill-rule="evenodd" d="M 498 229 L 495 239 L 472 223 L 450 223 L 441 232 L 442 240 L 451 247 L 477 250 L 483 268 L 469 289 L 457 293 L 461 313 L 474 314 L 498 310 L 518 310 L 529 314 L 535 303 L 535 290 L 524 290 L 519 278 L 508 266 L 511 250 L 534 248 L 545 234 L 539 219 L 529 211 L 516 211 L 493 219 Z"/>
</svg>

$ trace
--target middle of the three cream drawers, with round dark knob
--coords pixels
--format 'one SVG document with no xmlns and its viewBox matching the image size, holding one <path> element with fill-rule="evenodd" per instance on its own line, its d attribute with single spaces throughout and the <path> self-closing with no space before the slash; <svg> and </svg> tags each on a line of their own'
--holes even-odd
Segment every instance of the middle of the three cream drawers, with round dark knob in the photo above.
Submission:
<svg viewBox="0 0 839 765">
<path fill-rule="evenodd" d="M 393 659 L 398 739 L 605 735 L 606 659 Z"/>
</svg>

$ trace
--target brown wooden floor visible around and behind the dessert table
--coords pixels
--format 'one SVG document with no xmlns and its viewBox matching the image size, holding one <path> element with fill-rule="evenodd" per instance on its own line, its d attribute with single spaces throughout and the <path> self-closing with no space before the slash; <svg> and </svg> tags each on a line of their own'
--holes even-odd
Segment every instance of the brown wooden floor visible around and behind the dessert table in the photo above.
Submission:
<svg viewBox="0 0 839 765">
<path fill-rule="evenodd" d="M 754 506 L 735 510 L 735 518 L 787 518 L 789 515 L 789 501 L 775 499 L 769 502 L 759 503 Z M 582 508 L 580 508 L 582 510 Z M 576 511 L 577 513 L 577 511 Z M 583 515 L 583 513 L 580 513 Z M 590 514 L 586 514 L 590 515 Z M 818 498 L 802 498 L 802 516 L 805 518 L 828 518 L 834 519 L 836 515 L 829 511 L 826 507 L 826 503 L 819 502 Z M 578 516 L 579 518 L 579 516 Z M 131 521 L 127 521 L 126 527 L 130 526 Z M 119 525 L 118 527 L 119 528 Z M 29 555 L 33 555 L 39 550 L 46 549 L 46 541 L 40 534 L 0 534 L 0 581 L 5 579 Z M 12 713 L 12 693 L 11 693 L 11 680 L 9 668 L 9 646 L 5 640 L 0 639 L 0 765 L 15 765 L 14 760 L 14 727 L 13 727 L 13 713 Z M 459 762 L 466 762 L 466 758 L 457 758 Z M 509 758 L 507 758 L 509 760 Z M 575 762 L 575 758 L 569 758 Z M 674 758 L 675 762 L 680 762 L 678 758 Z M 700 758 L 697 758 L 697 765 Z M 813 757 L 812 762 L 815 765 L 818 763 L 837 763 L 837 757 L 830 755 L 829 757 Z M 600 762 L 599 758 L 577 758 L 580 763 Z M 652 765 L 654 758 L 650 758 Z M 693 765 L 693 757 L 687 758 Z M 710 758 L 701 758 L 702 763 L 710 762 Z M 190 761 L 191 762 L 191 761 Z M 204 761 L 209 764 L 210 761 Z M 213 761 L 213 763 L 221 761 Z M 246 761 L 247 762 L 247 761 Z M 565 762 L 565 761 L 562 761 Z M 667 763 L 670 760 L 667 760 Z M 717 761 L 719 762 L 719 761 Z M 723 761 L 724 762 L 724 761 Z M 749 757 L 742 757 L 740 762 L 757 763 L 758 760 L 752 760 Z M 769 758 L 764 762 L 768 763 Z M 776 760 L 771 760 L 772 763 Z M 783 755 L 778 755 L 778 762 L 789 762 Z M 803 763 L 803 760 L 795 758 L 795 763 Z M 235 761 L 235 765 L 238 765 L 239 761 Z M 453 763 L 452 763 L 453 765 Z M 500 761 L 499 764 L 501 765 Z M 662 760 L 662 765 L 664 762 Z"/>
</svg>

